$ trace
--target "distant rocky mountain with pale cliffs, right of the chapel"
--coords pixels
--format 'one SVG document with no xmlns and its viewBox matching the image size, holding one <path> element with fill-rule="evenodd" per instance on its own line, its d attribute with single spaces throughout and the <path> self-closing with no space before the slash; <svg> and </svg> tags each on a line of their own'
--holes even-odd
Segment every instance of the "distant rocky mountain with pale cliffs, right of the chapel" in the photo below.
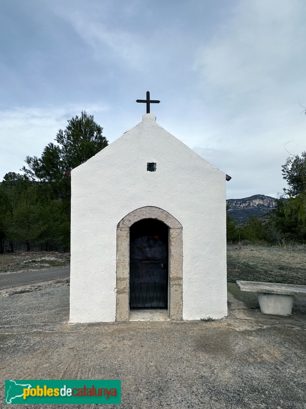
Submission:
<svg viewBox="0 0 306 409">
<path fill-rule="evenodd" d="M 275 197 L 265 195 L 253 195 L 243 199 L 227 199 L 226 213 L 238 223 L 242 223 L 251 216 L 261 217 L 265 213 L 276 208 Z"/>
</svg>

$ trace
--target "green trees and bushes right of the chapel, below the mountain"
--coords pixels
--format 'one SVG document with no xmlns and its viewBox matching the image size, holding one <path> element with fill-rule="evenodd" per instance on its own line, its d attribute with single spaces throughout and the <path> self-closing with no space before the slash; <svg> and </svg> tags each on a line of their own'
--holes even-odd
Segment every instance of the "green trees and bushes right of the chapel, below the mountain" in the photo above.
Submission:
<svg viewBox="0 0 306 409">
<path fill-rule="evenodd" d="M 306 242 L 306 152 L 290 155 L 282 166 L 282 174 L 287 182 L 283 189 L 286 197 L 277 199 L 276 209 L 264 217 L 252 216 L 241 226 L 226 216 L 227 242 Z"/>
</svg>

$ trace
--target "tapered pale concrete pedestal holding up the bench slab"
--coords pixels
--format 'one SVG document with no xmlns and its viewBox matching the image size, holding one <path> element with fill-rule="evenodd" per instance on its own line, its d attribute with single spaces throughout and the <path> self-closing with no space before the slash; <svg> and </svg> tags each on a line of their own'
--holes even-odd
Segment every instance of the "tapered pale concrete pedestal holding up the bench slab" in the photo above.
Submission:
<svg viewBox="0 0 306 409">
<path fill-rule="evenodd" d="M 294 296 L 259 292 L 258 301 L 263 314 L 291 315 Z"/>
</svg>

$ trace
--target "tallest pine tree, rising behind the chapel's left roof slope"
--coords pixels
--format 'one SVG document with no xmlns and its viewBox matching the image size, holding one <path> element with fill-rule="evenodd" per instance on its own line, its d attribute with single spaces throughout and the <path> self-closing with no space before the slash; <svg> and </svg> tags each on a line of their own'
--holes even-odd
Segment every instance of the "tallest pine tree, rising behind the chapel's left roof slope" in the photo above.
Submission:
<svg viewBox="0 0 306 409">
<path fill-rule="evenodd" d="M 108 145 L 102 131 L 103 128 L 94 121 L 93 116 L 82 111 L 80 117 L 72 117 L 67 127 L 58 131 L 56 143 L 49 143 L 41 157 L 27 156 L 25 160 L 27 166 L 21 169 L 29 180 L 36 182 L 40 190 L 40 202 L 42 201 L 46 210 L 45 214 L 52 209 L 57 209 L 52 220 L 53 226 L 57 225 L 59 234 L 49 226 L 48 232 L 53 231 L 49 234 L 50 242 L 53 242 L 56 236 L 58 239 L 60 237 L 65 248 L 69 245 L 70 238 L 69 172 Z M 47 242 L 47 235 L 47 231 L 41 232 L 44 245 Z"/>
</svg>

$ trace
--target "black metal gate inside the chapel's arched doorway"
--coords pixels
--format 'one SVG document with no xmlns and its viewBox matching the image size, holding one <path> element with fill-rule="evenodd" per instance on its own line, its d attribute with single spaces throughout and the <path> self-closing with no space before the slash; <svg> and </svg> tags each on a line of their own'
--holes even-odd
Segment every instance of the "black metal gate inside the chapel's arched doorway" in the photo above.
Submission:
<svg viewBox="0 0 306 409">
<path fill-rule="evenodd" d="M 159 220 L 130 228 L 130 308 L 168 308 L 168 226 Z"/>
</svg>

